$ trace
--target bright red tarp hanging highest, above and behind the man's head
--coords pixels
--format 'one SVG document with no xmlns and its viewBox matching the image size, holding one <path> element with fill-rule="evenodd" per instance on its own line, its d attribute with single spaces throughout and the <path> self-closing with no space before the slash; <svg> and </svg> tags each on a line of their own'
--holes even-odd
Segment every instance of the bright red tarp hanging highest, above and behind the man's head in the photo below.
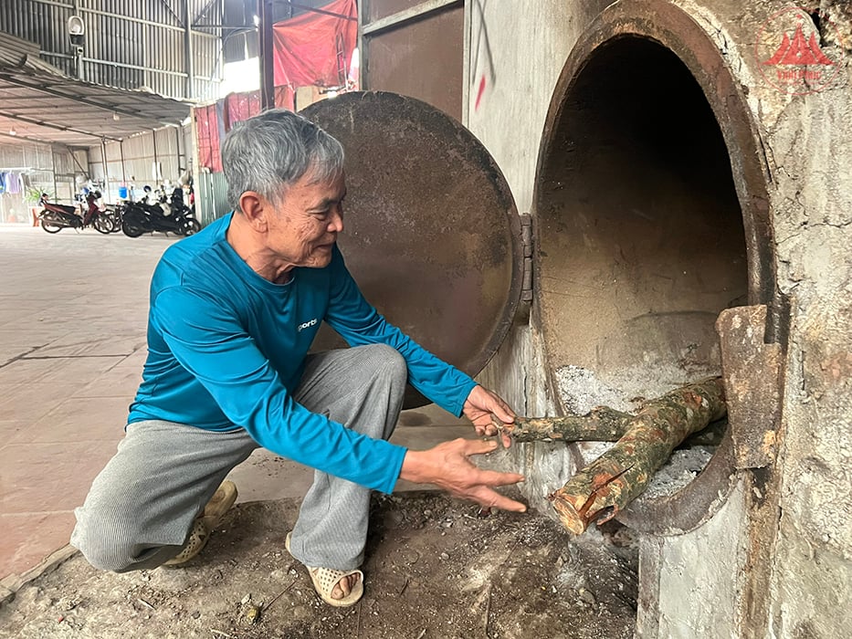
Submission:
<svg viewBox="0 0 852 639">
<path fill-rule="evenodd" d="M 307 11 L 272 27 L 276 87 L 346 84 L 352 50 L 358 40 L 355 0 L 334 0 L 321 8 L 352 19 Z"/>
</svg>

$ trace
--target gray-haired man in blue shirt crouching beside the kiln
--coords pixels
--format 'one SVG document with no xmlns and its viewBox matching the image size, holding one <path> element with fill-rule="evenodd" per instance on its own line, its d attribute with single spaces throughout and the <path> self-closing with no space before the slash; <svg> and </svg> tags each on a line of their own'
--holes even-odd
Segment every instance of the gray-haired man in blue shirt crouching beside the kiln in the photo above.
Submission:
<svg viewBox="0 0 852 639">
<path fill-rule="evenodd" d="M 285 545 L 323 601 L 363 594 L 370 489 L 404 478 L 523 511 L 493 487 L 521 481 L 468 456 L 493 441 L 426 451 L 386 440 L 405 382 L 479 435 L 509 406 L 425 351 L 363 298 L 336 245 L 346 194 L 341 144 L 271 110 L 222 147 L 234 211 L 170 246 L 156 267 L 148 359 L 118 452 L 77 508 L 71 543 L 103 570 L 180 565 L 237 498 L 228 472 L 258 446 L 316 469 Z M 309 354 L 322 321 L 352 346 Z"/>
</svg>

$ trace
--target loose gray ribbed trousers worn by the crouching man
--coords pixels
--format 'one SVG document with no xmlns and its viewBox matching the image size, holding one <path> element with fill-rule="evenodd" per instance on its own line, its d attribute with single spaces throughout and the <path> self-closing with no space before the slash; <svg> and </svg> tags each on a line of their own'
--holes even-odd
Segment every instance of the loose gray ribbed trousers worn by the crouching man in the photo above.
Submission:
<svg viewBox="0 0 852 639">
<path fill-rule="evenodd" d="M 294 399 L 353 430 L 387 439 L 402 408 L 405 360 L 384 345 L 310 355 Z M 230 470 L 258 444 L 239 428 L 129 424 L 118 452 L 74 512 L 71 545 L 96 568 L 151 569 L 184 546 L 196 516 Z M 308 566 L 352 570 L 363 563 L 370 491 L 316 471 L 293 529 L 293 556 Z M 284 530 L 281 532 L 283 546 Z"/>
</svg>

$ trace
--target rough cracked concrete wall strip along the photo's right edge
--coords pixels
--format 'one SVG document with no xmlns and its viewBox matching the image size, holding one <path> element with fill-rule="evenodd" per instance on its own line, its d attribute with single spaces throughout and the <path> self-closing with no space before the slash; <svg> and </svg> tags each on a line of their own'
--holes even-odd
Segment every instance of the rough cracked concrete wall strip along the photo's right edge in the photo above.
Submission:
<svg viewBox="0 0 852 639">
<path fill-rule="evenodd" d="M 778 637 L 844 636 L 852 622 L 852 7 L 823 5 L 845 46 L 836 83 L 758 105 L 775 107 L 763 141 L 792 303 L 769 596 Z"/>
</svg>

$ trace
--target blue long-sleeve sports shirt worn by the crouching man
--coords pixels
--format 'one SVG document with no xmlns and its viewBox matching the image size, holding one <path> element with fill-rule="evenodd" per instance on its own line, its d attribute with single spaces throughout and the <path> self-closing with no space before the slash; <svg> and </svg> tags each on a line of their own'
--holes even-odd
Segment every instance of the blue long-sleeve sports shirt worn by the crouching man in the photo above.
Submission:
<svg viewBox="0 0 852 639">
<path fill-rule="evenodd" d="M 476 382 L 385 321 L 363 298 L 337 246 L 328 267 L 294 268 L 287 284 L 258 276 L 227 243 L 232 215 L 170 246 L 154 270 L 148 359 L 128 423 L 245 428 L 280 456 L 392 492 L 404 447 L 355 433 L 293 400 L 321 321 L 351 346 L 394 347 L 408 381 L 450 413 L 461 414 Z"/>
</svg>

